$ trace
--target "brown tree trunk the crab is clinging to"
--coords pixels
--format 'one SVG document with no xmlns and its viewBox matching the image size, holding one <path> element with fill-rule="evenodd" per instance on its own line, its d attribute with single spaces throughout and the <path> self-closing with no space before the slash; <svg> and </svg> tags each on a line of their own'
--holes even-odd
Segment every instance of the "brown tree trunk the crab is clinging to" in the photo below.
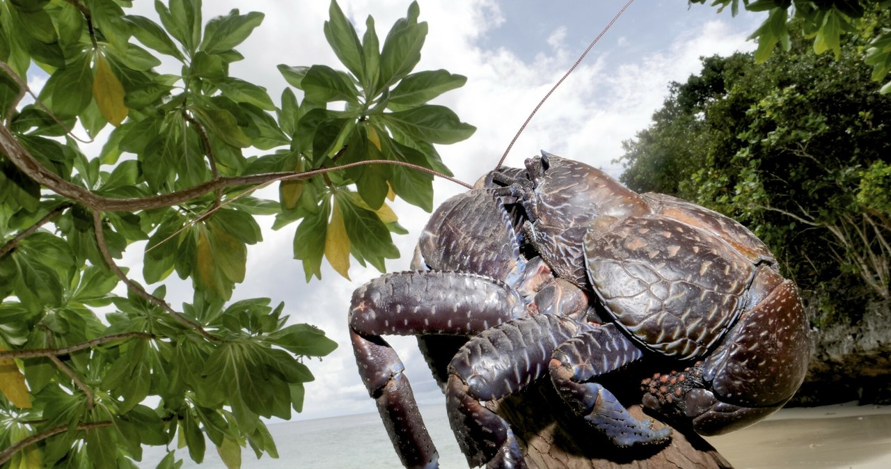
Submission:
<svg viewBox="0 0 891 469">
<path fill-rule="evenodd" d="M 617 397 L 622 399 L 627 393 Z M 511 425 L 530 469 L 732 468 L 699 434 L 680 425 L 672 427 L 668 443 L 616 448 L 584 419 L 570 415 L 545 380 L 488 407 Z M 640 404 L 630 405 L 629 410 L 635 418 L 652 418 L 644 414 Z M 666 426 L 658 420 L 653 425 Z"/>
</svg>

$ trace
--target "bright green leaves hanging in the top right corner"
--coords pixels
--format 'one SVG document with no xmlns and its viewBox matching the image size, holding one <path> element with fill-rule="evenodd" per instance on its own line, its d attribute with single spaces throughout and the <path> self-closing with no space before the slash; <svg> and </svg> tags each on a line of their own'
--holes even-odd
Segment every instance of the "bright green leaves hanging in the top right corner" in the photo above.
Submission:
<svg viewBox="0 0 891 469">
<path fill-rule="evenodd" d="M 691 4 L 705 4 L 707 0 L 688 0 Z M 713 6 L 722 12 L 731 7 L 733 16 L 740 12 L 740 0 L 712 0 Z M 805 0 L 742 0 L 750 12 L 768 12 L 767 19 L 756 29 L 751 38 L 758 40 L 755 60 L 762 63 L 771 56 L 776 46 L 789 51 L 789 29 L 794 25 L 795 34 L 813 39 L 813 52 L 832 51 L 836 59 L 841 57 L 842 43 L 846 34 L 859 36 L 863 45 L 862 60 L 872 67 L 871 78 L 882 81 L 891 72 L 891 28 L 880 15 L 891 7 L 888 0 L 831 0 L 812 2 Z M 791 20 L 791 21 L 790 21 Z M 891 93 L 891 82 L 883 85 L 880 93 Z"/>
</svg>

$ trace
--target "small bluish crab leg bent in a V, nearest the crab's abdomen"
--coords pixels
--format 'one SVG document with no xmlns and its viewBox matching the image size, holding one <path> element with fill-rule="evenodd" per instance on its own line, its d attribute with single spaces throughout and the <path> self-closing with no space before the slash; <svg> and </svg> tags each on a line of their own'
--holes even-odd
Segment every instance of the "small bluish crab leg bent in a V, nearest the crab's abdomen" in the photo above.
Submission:
<svg viewBox="0 0 891 469">
<path fill-rule="evenodd" d="M 595 376 L 639 360 L 642 352 L 613 324 L 595 327 L 561 344 L 553 353 L 551 379 L 560 397 L 576 414 L 618 446 L 665 441 L 671 430 L 653 430 L 650 420 L 638 421 Z"/>
</svg>

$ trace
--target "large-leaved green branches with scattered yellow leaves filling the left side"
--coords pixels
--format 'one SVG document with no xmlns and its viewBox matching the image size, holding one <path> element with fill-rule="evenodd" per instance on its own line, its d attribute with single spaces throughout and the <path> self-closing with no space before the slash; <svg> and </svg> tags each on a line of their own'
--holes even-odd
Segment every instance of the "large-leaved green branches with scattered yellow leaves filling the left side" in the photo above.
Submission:
<svg viewBox="0 0 891 469">
<path fill-rule="evenodd" d="M 156 0 L 151 19 L 130 6 L 0 1 L 5 467 L 134 467 L 142 445 L 174 441 L 197 462 L 212 445 L 230 467 L 246 445 L 275 456 L 261 417 L 300 411 L 303 358 L 336 344 L 282 303 L 230 302 L 262 240 L 255 217 L 296 223 L 307 280 L 323 256 L 344 276 L 351 257 L 383 271 L 404 231 L 387 198 L 429 210 L 419 169 L 447 173 L 434 144 L 474 131 L 429 104 L 464 77 L 413 72 L 417 4 L 381 42 L 371 17 L 360 40 L 332 2 L 323 34 L 347 71 L 281 65 L 297 92 L 279 103 L 230 74 L 263 13 L 204 21 L 200 0 Z M 29 73 L 47 77 L 36 96 Z M 271 182 L 279 200 L 250 195 Z M 116 261 L 137 241 L 151 287 Z M 178 310 L 159 284 L 173 272 L 194 287 Z M 178 464 L 171 449 L 159 466 Z"/>
</svg>

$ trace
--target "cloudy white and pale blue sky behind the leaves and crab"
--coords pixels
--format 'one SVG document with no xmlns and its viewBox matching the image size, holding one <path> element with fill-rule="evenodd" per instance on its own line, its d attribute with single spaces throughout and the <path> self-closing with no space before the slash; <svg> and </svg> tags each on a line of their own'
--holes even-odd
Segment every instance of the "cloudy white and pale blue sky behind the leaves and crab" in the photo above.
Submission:
<svg viewBox="0 0 891 469">
<path fill-rule="evenodd" d="M 408 7 L 406 0 L 340 0 L 339 4 L 360 37 L 371 14 L 381 40 Z M 495 166 L 535 104 L 624 4 L 625 0 L 421 0 L 420 20 L 429 22 L 429 36 L 415 71 L 447 69 L 468 77 L 467 85 L 435 101 L 478 129 L 467 141 L 438 149 L 458 179 L 472 183 Z M 151 8 L 151 2 L 135 2 L 133 12 L 157 18 Z M 323 36 L 328 2 L 206 0 L 204 19 L 232 8 L 266 13 L 263 24 L 237 47 L 245 60 L 233 64 L 231 75 L 265 86 L 274 101 L 287 86 L 275 68 L 280 63 L 343 69 Z M 751 13 L 737 18 L 730 12 L 716 14 L 715 8 L 700 4 L 688 8 L 684 0 L 632 4 L 540 109 L 516 142 L 507 166 L 522 166 L 525 158 L 547 150 L 617 176 L 621 166 L 614 160 L 623 154 L 621 142 L 650 124 L 653 111 L 667 96 L 668 84 L 698 72 L 701 56 L 754 50 L 755 44 L 746 38 L 762 20 Z M 39 86 L 40 78 L 30 81 Z M 437 181 L 434 190 L 437 206 L 463 189 Z M 266 194 L 274 198 L 277 190 Z M 405 204 L 397 203 L 394 209 L 410 234 L 396 236 L 403 258 L 389 262 L 388 271 L 407 269 L 414 242 L 429 217 Z M 268 228 L 271 217 L 260 222 L 266 227 L 264 241 L 249 248 L 247 279 L 236 288 L 233 301 L 258 296 L 270 297 L 274 304 L 283 301 L 291 322 L 315 324 L 339 344 L 323 360 L 306 361 L 316 379 L 307 384 L 304 411 L 295 418 L 374 412 L 356 372 L 347 309 L 352 291 L 380 272 L 354 265 L 347 280 L 324 265 L 323 279 L 307 284 L 303 266 L 292 259 L 295 225 L 273 231 Z M 143 249 L 143 244 L 131 245 L 123 261 L 136 279 L 142 271 Z M 179 308 L 183 301 L 191 301 L 192 290 L 173 277 L 168 279 L 168 301 Z M 422 405 L 444 405 L 413 337 L 388 337 L 388 341 L 405 362 L 417 400 Z"/>
</svg>

